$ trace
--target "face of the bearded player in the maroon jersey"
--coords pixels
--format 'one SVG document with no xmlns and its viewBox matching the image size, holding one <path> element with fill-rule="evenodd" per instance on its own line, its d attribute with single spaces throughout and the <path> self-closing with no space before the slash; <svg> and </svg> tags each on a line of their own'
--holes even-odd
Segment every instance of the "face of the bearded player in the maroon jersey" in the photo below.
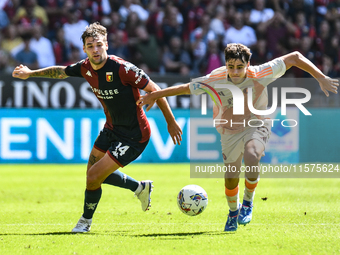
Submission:
<svg viewBox="0 0 340 255">
<path fill-rule="evenodd" d="M 107 40 L 105 36 L 88 37 L 83 46 L 93 69 L 98 70 L 104 66 L 107 60 Z"/>
</svg>

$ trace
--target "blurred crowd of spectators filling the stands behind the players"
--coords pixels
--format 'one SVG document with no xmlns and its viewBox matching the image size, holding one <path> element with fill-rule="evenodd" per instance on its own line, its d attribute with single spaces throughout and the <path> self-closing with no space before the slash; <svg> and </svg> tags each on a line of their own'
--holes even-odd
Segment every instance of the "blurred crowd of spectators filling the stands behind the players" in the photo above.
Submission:
<svg viewBox="0 0 340 255">
<path fill-rule="evenodd" d="M 0 0 L 0 72 L 85 58 L 80 37 L 95 21 L 108 30 L 108 53 L 147 73 L 210 73 L 238 42 L 252 65 L 297 50 L 340 77 L 340 0 Z"/>
</svg>

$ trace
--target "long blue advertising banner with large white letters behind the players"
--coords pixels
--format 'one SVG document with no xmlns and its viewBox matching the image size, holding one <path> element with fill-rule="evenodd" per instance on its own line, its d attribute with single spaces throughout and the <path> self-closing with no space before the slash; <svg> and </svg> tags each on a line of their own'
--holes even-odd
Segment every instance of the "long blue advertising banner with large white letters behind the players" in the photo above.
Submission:
<svg viewBox="0 0 340 255">
<path fill-rule="evenodd" d="M 212 127 L 210 111 L 195 119 L 190 119 L 190 110 L 174 109 L 173 113 L 183 130 L 182 144 L 173 144 L 161 111 L 153 109 L 147 112 L 151 139 L 136 162 L 190 162 L 193 150 L 203 161 L 223 162 L 220 137 Z M 273 115 L 280 121 L 272 128 L 263 163 L 338 162 L 339 111 L 313 109 L 311 117 L 290 109 L 287 114 L 286 119 L 296 119 L 299 124 L 283 129 L 279 125 L 281 117 Z M 319 125 L 320 120 L 327 125 Z M 86 163 L 104 123 L 101 109 L 2 108 L 0 163 Z M 189 134 L 195 141 L 189 142 Z M 325 144 L 327 147 L 321 146 Z"/>
</svg>

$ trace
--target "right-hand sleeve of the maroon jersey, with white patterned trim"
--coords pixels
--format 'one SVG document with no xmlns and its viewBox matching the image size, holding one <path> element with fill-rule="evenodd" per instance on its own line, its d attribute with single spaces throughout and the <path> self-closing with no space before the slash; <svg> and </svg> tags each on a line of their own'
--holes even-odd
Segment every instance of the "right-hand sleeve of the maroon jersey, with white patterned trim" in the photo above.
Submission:
<svg viewBox="0 0 340 255">
<path fill-rule="evenodd" d="M 150 80 L 149 76 L 142 69 L 139 69 L 130 62 L 121 64 L 119 67 L 119 77 L 125 86 L 130 85 L 139 89 L 144 89 Z"/>
</svg>

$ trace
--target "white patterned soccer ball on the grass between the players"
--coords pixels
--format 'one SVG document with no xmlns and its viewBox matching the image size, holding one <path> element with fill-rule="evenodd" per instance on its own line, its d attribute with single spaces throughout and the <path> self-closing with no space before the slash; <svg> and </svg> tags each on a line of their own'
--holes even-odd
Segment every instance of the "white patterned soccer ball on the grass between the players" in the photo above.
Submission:
<svg viewBox="0 0 340 255">
<path fill-rule="evenodd" d="M 208 205 L 207 192 L 198 185 L 187 185 L 178 193 L 177 205 L 185 215 L 199 215 Z"/>
</svg>

